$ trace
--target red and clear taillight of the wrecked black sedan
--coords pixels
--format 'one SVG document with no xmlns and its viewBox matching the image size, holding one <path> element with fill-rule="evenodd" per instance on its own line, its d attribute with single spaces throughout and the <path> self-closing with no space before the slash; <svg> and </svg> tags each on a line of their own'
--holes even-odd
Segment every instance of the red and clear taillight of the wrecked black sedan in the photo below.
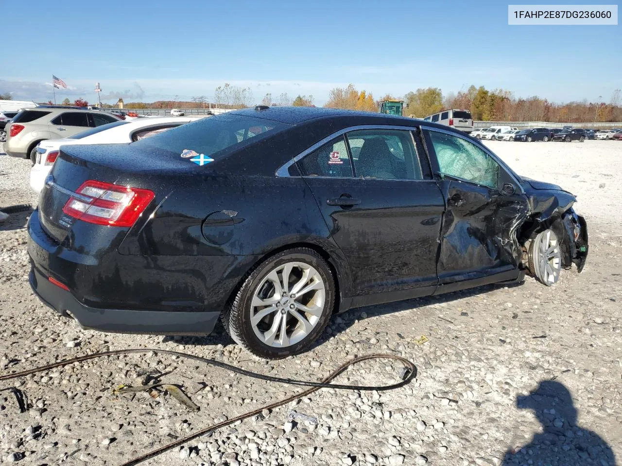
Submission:
<svg viewBox="0 0 622 466">
<path fill-rule="evenodd" d="M 155 196 L 150 190 L 95 180 L 85 181 L 76 192 L 81 196 L 67 201 L 63 207 L 65 214 L 114 227 L 131 227 Z"/>
</svg>

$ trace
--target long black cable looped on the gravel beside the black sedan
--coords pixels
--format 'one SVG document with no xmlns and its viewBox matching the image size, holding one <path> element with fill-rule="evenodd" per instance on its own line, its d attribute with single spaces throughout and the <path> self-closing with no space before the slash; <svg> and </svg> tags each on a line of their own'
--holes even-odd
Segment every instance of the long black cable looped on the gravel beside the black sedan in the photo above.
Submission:
<svg viewBox="0 0 622 466">
<path fill-rule="evenodd" d="M 192 440 L 192 439 L 196 439 L 197 437 L 203 436 L 205 434 L 207 434 L 208 432 L 212 432 L 215 431 L 216 429 L 220 429 L 221 427 L 225 427 L 228 426 L 230 424 L 236 423 L 238 421 L 241 421 L 243 419 L 247 419 L 247 418 L 251 418 L 252 416 L 256 416 L 257 414 L 261 413 L 261 411 L 263 411 L 264 409 L 274 409 L 277 408 L 278 406 L 283 406 L 284 404 L 289 403 L 290 401 L 294 401 L 297 400 L 299 398 L 302 398 L 304 396 L 308 396 L 311 393 L 314 393 L 315 391 L 319 390 L 320 388 L 335 388 L 337 390 L 363 390 L 363 391 L 371 391 L 371 390 L 376 390 L 376 391 L 386 391 L 386 390 L 394 390 L 396 388 L 400 388 L 404 385 L 407 385 L 409 383 L 411 383 L 411 381 L 417 377 L 417 367 L 415 367 L 414 363 L 412 363 L 411 361 L 401 357 L 401 356 L 397 356 L 397 355 L 392 355 L 392 354 L 370 354 L 370 355 L 366 355 L 366 356 L 361 356 L 358 358 L 354 358 L 351 359 L 349 361 L 346 361 L 345 363 L 341 364 L 338 368 L 336 368 L 335 370 L 333 370 L 333 372 L 331 372 L 328 377 L 324 378 L 324 380 L 320 381 L 320 382 L 312 382 L 312 381 L 306 381 L 306 380 L 295 380 L 295 379 L 291 379 L 291 378 L 281 378 L 281 377 L 272 377 L 270 375 L 263 375 L 263 374 L 259 374 L 256 372 L 251 372 L 249 370 L 245 370 L 239 367 L 236 367 L 234 365 L 228 364 L 226 362 L 221 362 L 221 361 L 217 361 L 215 359 L 210 359 L 210 358 L 204 358 L 204 357 L 200 357 L 200 356 L 195 356 L 192 354 L 187 354 L 187 353 L 182 353 L 182 352 L 178 352 L 178 351 L 171 351 L 171 350 L 160 350 L 160 349 L 141 349 L 141 348 L 136 348 L 136 349 L 126 349 L 126 350 L 113 350 L 113 351 L 105 351 L 105 352 L 100 352 L 100 353 L 93 353 L 93 354 L 87 354 L 84 356 L 80 356 L 77 358 L 73 358 L 73 359 L 67 359 L 67 360 L 62 360 L 59 362 L 55 362 L 52 364 L 48 364 L 42 367 L 35 367 L 32 369 L 27 369 L 27 370 L 22 370 L 21 372 L 16 372 L 16 373 L 11 373 L 11 374 L 6 374 L 6 375 L 0 375 L 0 381 L 2 380 L 11 380 L 12 378 L 17 378 L 17 377 L 24 377 L 25 375 L 30 375 L 30 374 L 34 374 L 37 372 L 43 372 L 45 370 L 50 370 L 53 369 L 55 367 L 62 367 L 62 366 L 66 366 L 69 364 L 72 364 L 74 362 L 82 362 L 82 361 L 87 361 L 90 359 L 96 359 L 96 358 L 100 358 L 100 357 L 106 357 L 106 356 L 114 356 L 114 355 L 119 355 L 119 354 L 136 354 L 136 353 L 140 353 L 140 354 L 144 354 L 147 352 L 154 352 L 154 353 L 160 353 L 160 354 L 169 354 L 169 355 L 174 355 L 174 356 L 179 356 L 185 359 L 192 359 L 192 360 L 196 360 L 196 361 L 200 361 L 200 362 L 204 362 L 207 363 L 208 365 L 213 365 L 216 367 L 220 367 L 226 370 L 231 370 L 232 372 L 238 373 L 240 375 L 245 375 L 246 377 L 252 377 L 252 378 L 257 378 L 259 380 L 267 380 L 267 381 L 273 381 L 273 382 L 277 382 L 277 383 L 285 383 L 287 385 L 299 385 L 299 386 L 309 386 L 310 388 L 302 391 L 301 393 L 296 393 L 295 395 L 289 396 L 288 398 L 284 398 L 283 400 L 280 401 L 276 401 L 276 403 L 272 403 L 272 404 L 268 404 L 266 406 L 262 406 L 261 408 L 258 409 L 254 409 L 253 411 L 248 411 L 248 413 L 244 413 L 244 414 L 240 414 L 239 416 L 236 416 L 235 418 L 231 418 L 228 419 L 227 421 L 223 421 L 222 423 L 218 423 L 218 424 L 213 424 L 209 427 L 205 427 L 205 429 L 202 429 L 201 431 L 195 432 L 193 434 L 190 434 L 187 437 L 183 437 L 182 439 L 179 439 L 175 442 L 172 442 L 170 444 L 164 445 L 163 447 L 159 447 L 155 450 L 152 450 L 151 452 L 148 452 L 147 454 L 141 455 L 137 458 L 134 458 L 126 463 L 124 463 L 121 466 L 134 466 L 136 464 L 139 464 L 145 460 L 151 459 L 153 457 L 156 457 L 157 455 L 160 455 L 170 449 L 173 449 L 175 447 L 179 447 L 180 445 L 185 444 L 186 442 Z M 397 383 L 392 383 L 391 385 L 379 385 L 379 386 L 371 386 L 371 385 L 340 385 L 340 384 L 334 384 L 334 383 L 330 383 L 331 380 L 333 380 L 335 377 L 337 377 L 340 373 L 344 372 L 349 366 L 359 363 L 359 362 L 363 362 L 363 361 L 367 361 L 367 360 L 373 360 L 373 359 L 392 359 L 392 360 L 396 360 L 401 362 L 404 365 L 404 370 L 402 371 L 404 373 L 404 376 L 402 377 L 402 380 L 397 382 Z"/>
</svg>

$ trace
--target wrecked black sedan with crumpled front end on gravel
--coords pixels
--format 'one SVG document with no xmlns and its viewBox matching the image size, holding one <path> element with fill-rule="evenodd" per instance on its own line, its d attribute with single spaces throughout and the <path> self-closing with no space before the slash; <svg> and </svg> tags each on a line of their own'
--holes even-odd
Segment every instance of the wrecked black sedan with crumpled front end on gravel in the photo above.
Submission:
<svg viewBox="0 0 622 466">
<path fill-rule="evenodd" d="M 264 107 L 60 151 L 28 226 L 30 285 L 107 332 L 308 347 L 333 313 L 580 272 L 587 226 L 559 186 L 430 122 Z"/>
</svg>

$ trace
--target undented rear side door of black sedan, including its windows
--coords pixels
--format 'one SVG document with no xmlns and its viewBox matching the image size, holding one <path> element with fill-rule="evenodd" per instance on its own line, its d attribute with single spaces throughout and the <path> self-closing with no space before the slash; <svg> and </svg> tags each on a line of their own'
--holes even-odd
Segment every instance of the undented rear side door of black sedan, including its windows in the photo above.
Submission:
<svg viewBox="0 0 622 466">
<path fill-rule="evenodd" d="M 353 305 L 378 293 L 430 294 L 444 200 L 411 128 L 366 127 L 313 147 L 299 161 L 353 276 Z M 427 164 L 427 165 L 426 165 Z"/>
</svg>

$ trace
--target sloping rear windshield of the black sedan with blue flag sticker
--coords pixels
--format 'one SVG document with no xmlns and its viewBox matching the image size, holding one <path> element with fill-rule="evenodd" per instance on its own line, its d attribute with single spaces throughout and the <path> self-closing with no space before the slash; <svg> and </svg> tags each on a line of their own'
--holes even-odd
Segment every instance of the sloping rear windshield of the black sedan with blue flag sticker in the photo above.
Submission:
<svg viewBox="0 0 622 466">
<path fill-rule="evenodd" d="M 245 115 L 218 115 L 200 119 L 162 134 L 133 142 L 181 154 L 184 150 L 219 158 L 234 148 L 244 147 L 289 128 L 290 125 Z"/>
</svg>

